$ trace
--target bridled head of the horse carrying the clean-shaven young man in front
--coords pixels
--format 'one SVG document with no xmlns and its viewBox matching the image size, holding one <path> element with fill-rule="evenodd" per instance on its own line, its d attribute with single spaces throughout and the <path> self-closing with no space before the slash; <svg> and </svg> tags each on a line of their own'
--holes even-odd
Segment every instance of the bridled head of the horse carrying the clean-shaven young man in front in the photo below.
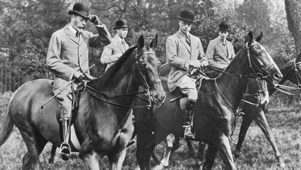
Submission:
<svg viewBox="0 0 301 170">
<path fill-rule="evenodd" d="M 263 79 L 272 86 L 276 86 L 283 76 L 269 53 L 260 44 L 261 40 L 262 32 L 256 38 L 255 42 L 253 41 L 252 32 L 248 33 L 245 47 L 248 53 L 249 66 L 259 79 Z"/>
</svg>

